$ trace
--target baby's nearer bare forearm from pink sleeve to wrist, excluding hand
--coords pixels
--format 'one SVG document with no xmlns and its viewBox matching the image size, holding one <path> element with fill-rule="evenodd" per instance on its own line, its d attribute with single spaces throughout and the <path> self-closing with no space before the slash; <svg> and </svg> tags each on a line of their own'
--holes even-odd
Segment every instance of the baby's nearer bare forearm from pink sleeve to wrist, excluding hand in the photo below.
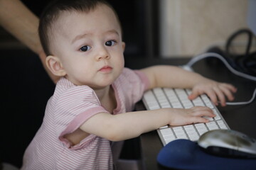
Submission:
<svg viewBox="0 0 256 170">
<path fill-rule="evenodd" d="M 167 110 L 138 111 L 118 115 L 99 113 L 87 120 L 80 129 L 111 141 L 127 140 L 169 124 L 170 114 Z M 100 125 L 97 124 L 99 122 Z"/>
</svg>

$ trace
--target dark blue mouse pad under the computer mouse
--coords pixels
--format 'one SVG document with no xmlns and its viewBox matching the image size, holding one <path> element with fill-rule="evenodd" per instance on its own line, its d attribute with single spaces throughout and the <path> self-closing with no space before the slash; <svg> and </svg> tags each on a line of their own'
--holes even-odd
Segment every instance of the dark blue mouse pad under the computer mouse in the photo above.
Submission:
<svg viewBox="0 0 256 170">
<path fill-rule="evenodd" d="M 157 162 L 173 169 L 256 169 L 256 159 L 236 159 L 217 157 L 207 154 L 196 142 L 190 140 L 174 140 L 163 147 Z"/>
</svg>

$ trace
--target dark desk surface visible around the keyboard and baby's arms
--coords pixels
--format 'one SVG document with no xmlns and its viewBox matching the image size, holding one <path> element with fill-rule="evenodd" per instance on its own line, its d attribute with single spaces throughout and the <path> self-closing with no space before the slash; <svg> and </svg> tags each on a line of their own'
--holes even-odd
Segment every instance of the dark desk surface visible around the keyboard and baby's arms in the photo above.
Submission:
<svg viewBox="0 0 256 170">
<path fill-rule="evenodd" d="M 137 63 L 143 67 L 153 64 L 186 64 L 188 59 L 169 59 L 169 60 L 155 60 L 151 62 Z M 132 64 L 132 63 L 127 63 Z M 136 69 L 136 68 L 135 68 Z M 223 81 L 233 84 L 238 88 L 235 94 L 235 101 L 248 101 L 252 97 L 252 92 L 256 87 L 256 81 L 250 81 L 231 73 L 222 62 L 218 59 L 205 59 L 193 65 L 195 72 L 202 74 L 205 77 L 214 79 L 216 81 Z M 137 110 L 144 110 L 142 102 L 137 103 Z M 256 100 L 245 106 L 226 106 L 218 107 L 223 118 L 233 130 L 244 132 L 245 134 L 256 138 Z M 144 169 L 164 169 L 156 162 L 156 156 L 159 150 L 163 147 L 159 136 L 155 131 L 145 133 L 140 137 L 142 149 L 142 161 Z"/>
</svg>

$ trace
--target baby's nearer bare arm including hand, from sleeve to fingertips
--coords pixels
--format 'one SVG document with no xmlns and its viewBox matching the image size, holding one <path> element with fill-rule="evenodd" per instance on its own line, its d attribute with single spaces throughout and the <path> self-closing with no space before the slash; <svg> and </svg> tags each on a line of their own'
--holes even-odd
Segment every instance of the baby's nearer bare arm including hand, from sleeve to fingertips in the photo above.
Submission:
<svg viewBox="0 0 256 170">
<path fill-rule="evenodd" d="M 137 137 L 144 132 L 156 130 L 164 125 L 187 125 L 206 123 L 215 115 L 207 107 L 161 108 L 153 111 L 137 111 L 112 115 L 98 113 L 93 115 L 80 129 L 88 134 L 104 137 L 107 140 L 119 141 Z"/>
</svg>

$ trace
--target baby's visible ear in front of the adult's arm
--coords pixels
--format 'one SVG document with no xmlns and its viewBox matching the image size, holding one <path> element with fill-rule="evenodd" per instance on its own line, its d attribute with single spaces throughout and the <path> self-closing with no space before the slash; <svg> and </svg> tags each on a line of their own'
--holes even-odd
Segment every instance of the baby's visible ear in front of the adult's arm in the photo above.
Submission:
<svg viewBox="0 0 256 170">
<path fill-rule="evenodd" d="M 65 76 L 65 69 L 63 68 L 63 65 L 61 64 L 58 57 L 49 55 L 48 57 L 46 57 L 46 65 L 48 69 L 50 69 L 50 72 L 52 72 L 55 76 Z"/>
</svg>

